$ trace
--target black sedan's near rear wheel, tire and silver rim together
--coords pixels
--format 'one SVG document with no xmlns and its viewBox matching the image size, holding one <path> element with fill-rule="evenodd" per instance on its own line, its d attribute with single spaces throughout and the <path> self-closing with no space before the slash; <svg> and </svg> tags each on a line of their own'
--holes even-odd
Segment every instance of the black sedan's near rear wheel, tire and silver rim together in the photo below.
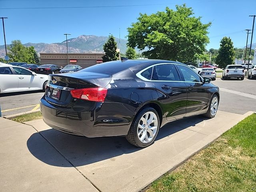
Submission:
<svg viewBox="0 0 256 192">
<path fill-rule="evenodd" d="M 151 118 L 152 120 L 150 121 Z M 150 121 L 151 123 L 148 121 Z M 152 129 L 153 127 L 156 128 Z M 158 113 L 154 108 L 147 107 L 141 110 L 138 114 L 136 114 L 128 131 L 128 134 L 125 137 L 128 142 L 130 142 L 130 144 L 133 144 L 134 146 L 142 148 L 147 147 L 150 146 L 156 139 L 159 128 L 160 119 Z"/>
</svg>

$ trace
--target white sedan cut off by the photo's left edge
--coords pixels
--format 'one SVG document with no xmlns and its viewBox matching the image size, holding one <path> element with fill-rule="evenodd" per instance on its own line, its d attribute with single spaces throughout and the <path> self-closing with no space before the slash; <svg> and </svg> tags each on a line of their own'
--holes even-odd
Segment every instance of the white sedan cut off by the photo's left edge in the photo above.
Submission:
<svg viewBox="0 0 256 192">
<path fill-rule="evenodd" d="M 48 75 L 18 66 L 0 66 L 0 93 L 45 90 Z"/>
</svg>

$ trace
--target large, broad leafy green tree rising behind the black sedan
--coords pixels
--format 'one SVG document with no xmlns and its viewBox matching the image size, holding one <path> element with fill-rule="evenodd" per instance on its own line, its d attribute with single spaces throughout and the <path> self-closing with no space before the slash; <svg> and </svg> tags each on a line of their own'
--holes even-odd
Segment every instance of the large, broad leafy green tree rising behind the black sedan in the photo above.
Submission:
<svg viewBox="0 0 256 192">
<path fill-rule="evenodd" d="M 141 14 L 128 27 L 128 46 L 146 50 L 147 58 L 192 62 L 202 54 L 209 43 L 207 36 L 211 23 L 202 24 L 201 17 L 192 16 L 192 8 L 176 5 L 165 12 Z"/>
</svg>

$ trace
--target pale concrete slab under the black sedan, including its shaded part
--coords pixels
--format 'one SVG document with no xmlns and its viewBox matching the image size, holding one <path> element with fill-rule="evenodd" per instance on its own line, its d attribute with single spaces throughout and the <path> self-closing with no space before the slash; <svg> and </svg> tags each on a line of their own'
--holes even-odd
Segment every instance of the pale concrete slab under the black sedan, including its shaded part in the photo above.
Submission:
<svg viewBox="0 0 256 192">
<path fill-rule="evenodd" d="M 250 114 L 218 111 L 213 119 L 172 122 L 143 149 L 123 137 L 72 136 L 42 120 L 0 118 L 1 190 L 138 192 Z"/>
</svg>

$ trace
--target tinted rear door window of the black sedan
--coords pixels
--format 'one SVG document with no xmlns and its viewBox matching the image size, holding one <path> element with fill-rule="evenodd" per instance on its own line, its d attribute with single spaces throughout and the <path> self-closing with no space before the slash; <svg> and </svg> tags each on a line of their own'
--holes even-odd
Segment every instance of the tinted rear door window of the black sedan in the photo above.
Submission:
<svg viewBox="0 0 256 192">
<path fill-rule="evenodd" d="M 152 80 L 180 81 L 180 77 L 174 64 L 162 64 L 154 66 Z"/>
</svg>

